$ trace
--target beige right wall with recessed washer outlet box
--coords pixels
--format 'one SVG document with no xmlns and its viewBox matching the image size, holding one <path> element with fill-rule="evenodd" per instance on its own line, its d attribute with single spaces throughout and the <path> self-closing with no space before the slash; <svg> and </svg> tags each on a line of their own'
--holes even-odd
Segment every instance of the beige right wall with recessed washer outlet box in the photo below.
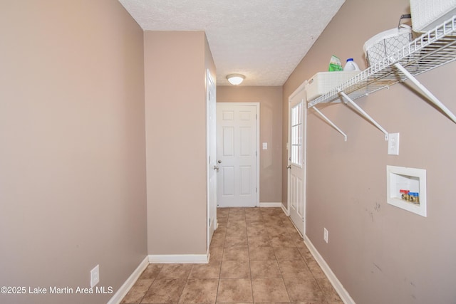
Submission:
<svg viewBox="0 0 456 304">
<path fill-rule="evenodd" d="M 363 43 L 408 11 L 407 0 L 347 0 L 285 83 L 284 109 L 332 54 L 366 68 Z M 451 63 L 418 77 L 453 112 L 455 72 Z M 400 133 L 400 155 L 388 155 L 383 133 L 345 105 L 318 108 L 347 142 L 309 110 L 306 234 L 356 303 L 454 303 L 456 125 L 400 83 L 356 103 Z M 427 170 L 427 218 L 386 204 L 387 164 Z"/>
</svg>

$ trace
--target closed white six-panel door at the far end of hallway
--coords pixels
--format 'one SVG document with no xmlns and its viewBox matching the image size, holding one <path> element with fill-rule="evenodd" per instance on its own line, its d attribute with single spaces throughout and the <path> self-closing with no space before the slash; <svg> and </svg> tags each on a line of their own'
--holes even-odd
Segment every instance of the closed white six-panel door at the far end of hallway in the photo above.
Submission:
<svg viewBox="0 0 456 304">
<path fill-rule="evenodd" d="M 257 206 L 259 105 L 217 103 L 217 204 Z"/>
</svg>

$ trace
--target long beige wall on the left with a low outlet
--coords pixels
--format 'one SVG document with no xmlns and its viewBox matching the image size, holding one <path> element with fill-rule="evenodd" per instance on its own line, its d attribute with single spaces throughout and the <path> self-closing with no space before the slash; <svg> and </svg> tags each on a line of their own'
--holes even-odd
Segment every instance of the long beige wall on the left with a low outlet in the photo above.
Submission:
<svg viewBox="0 0 456 304">
<path fill-rule="evenodd" d="M 0 36 L 0 285 L 88 288 L 99 264 L 115 292 L 147 254 L 142 30 L 118 1 L 1 1 Z"/>
</svg>

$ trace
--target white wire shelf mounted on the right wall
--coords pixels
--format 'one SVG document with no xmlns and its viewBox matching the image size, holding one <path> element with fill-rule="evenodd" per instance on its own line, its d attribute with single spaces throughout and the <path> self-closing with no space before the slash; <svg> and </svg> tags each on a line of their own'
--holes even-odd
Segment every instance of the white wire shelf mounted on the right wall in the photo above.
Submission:
<svg viewBox="0 0 456 304">
<path fill-rule="evenodd" d="M 406 80 L 410 78 L 410 75 L 419 75 L 455 60 L 456 16 L 453 16 L 452 19 L 416 38 L 392 56 L 383 58 L 383 61 L 363 70 L 345 83 L 331 89 L 328 93 L 309 101 L 307 107 L 311 108 L 318 103 L 336 101 L 342 98 L 341 92 L 345 93 L 351 100 L 356 100 Z M 405 68 L 408 73 L 403 73 L 398 65 Z"/>
</svg>

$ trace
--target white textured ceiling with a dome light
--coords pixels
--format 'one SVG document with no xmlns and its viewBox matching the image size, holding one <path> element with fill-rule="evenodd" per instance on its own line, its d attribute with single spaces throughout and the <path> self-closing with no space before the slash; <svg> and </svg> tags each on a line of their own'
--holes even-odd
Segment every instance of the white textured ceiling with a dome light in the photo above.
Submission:
<svg viewBox="0 0 456 304">
<path fill-rule="evenodd" d="M 345 0 L 119 0 L 145 31 L 205 31 L 217 85 L 283 85 Z"/>
</svg>

